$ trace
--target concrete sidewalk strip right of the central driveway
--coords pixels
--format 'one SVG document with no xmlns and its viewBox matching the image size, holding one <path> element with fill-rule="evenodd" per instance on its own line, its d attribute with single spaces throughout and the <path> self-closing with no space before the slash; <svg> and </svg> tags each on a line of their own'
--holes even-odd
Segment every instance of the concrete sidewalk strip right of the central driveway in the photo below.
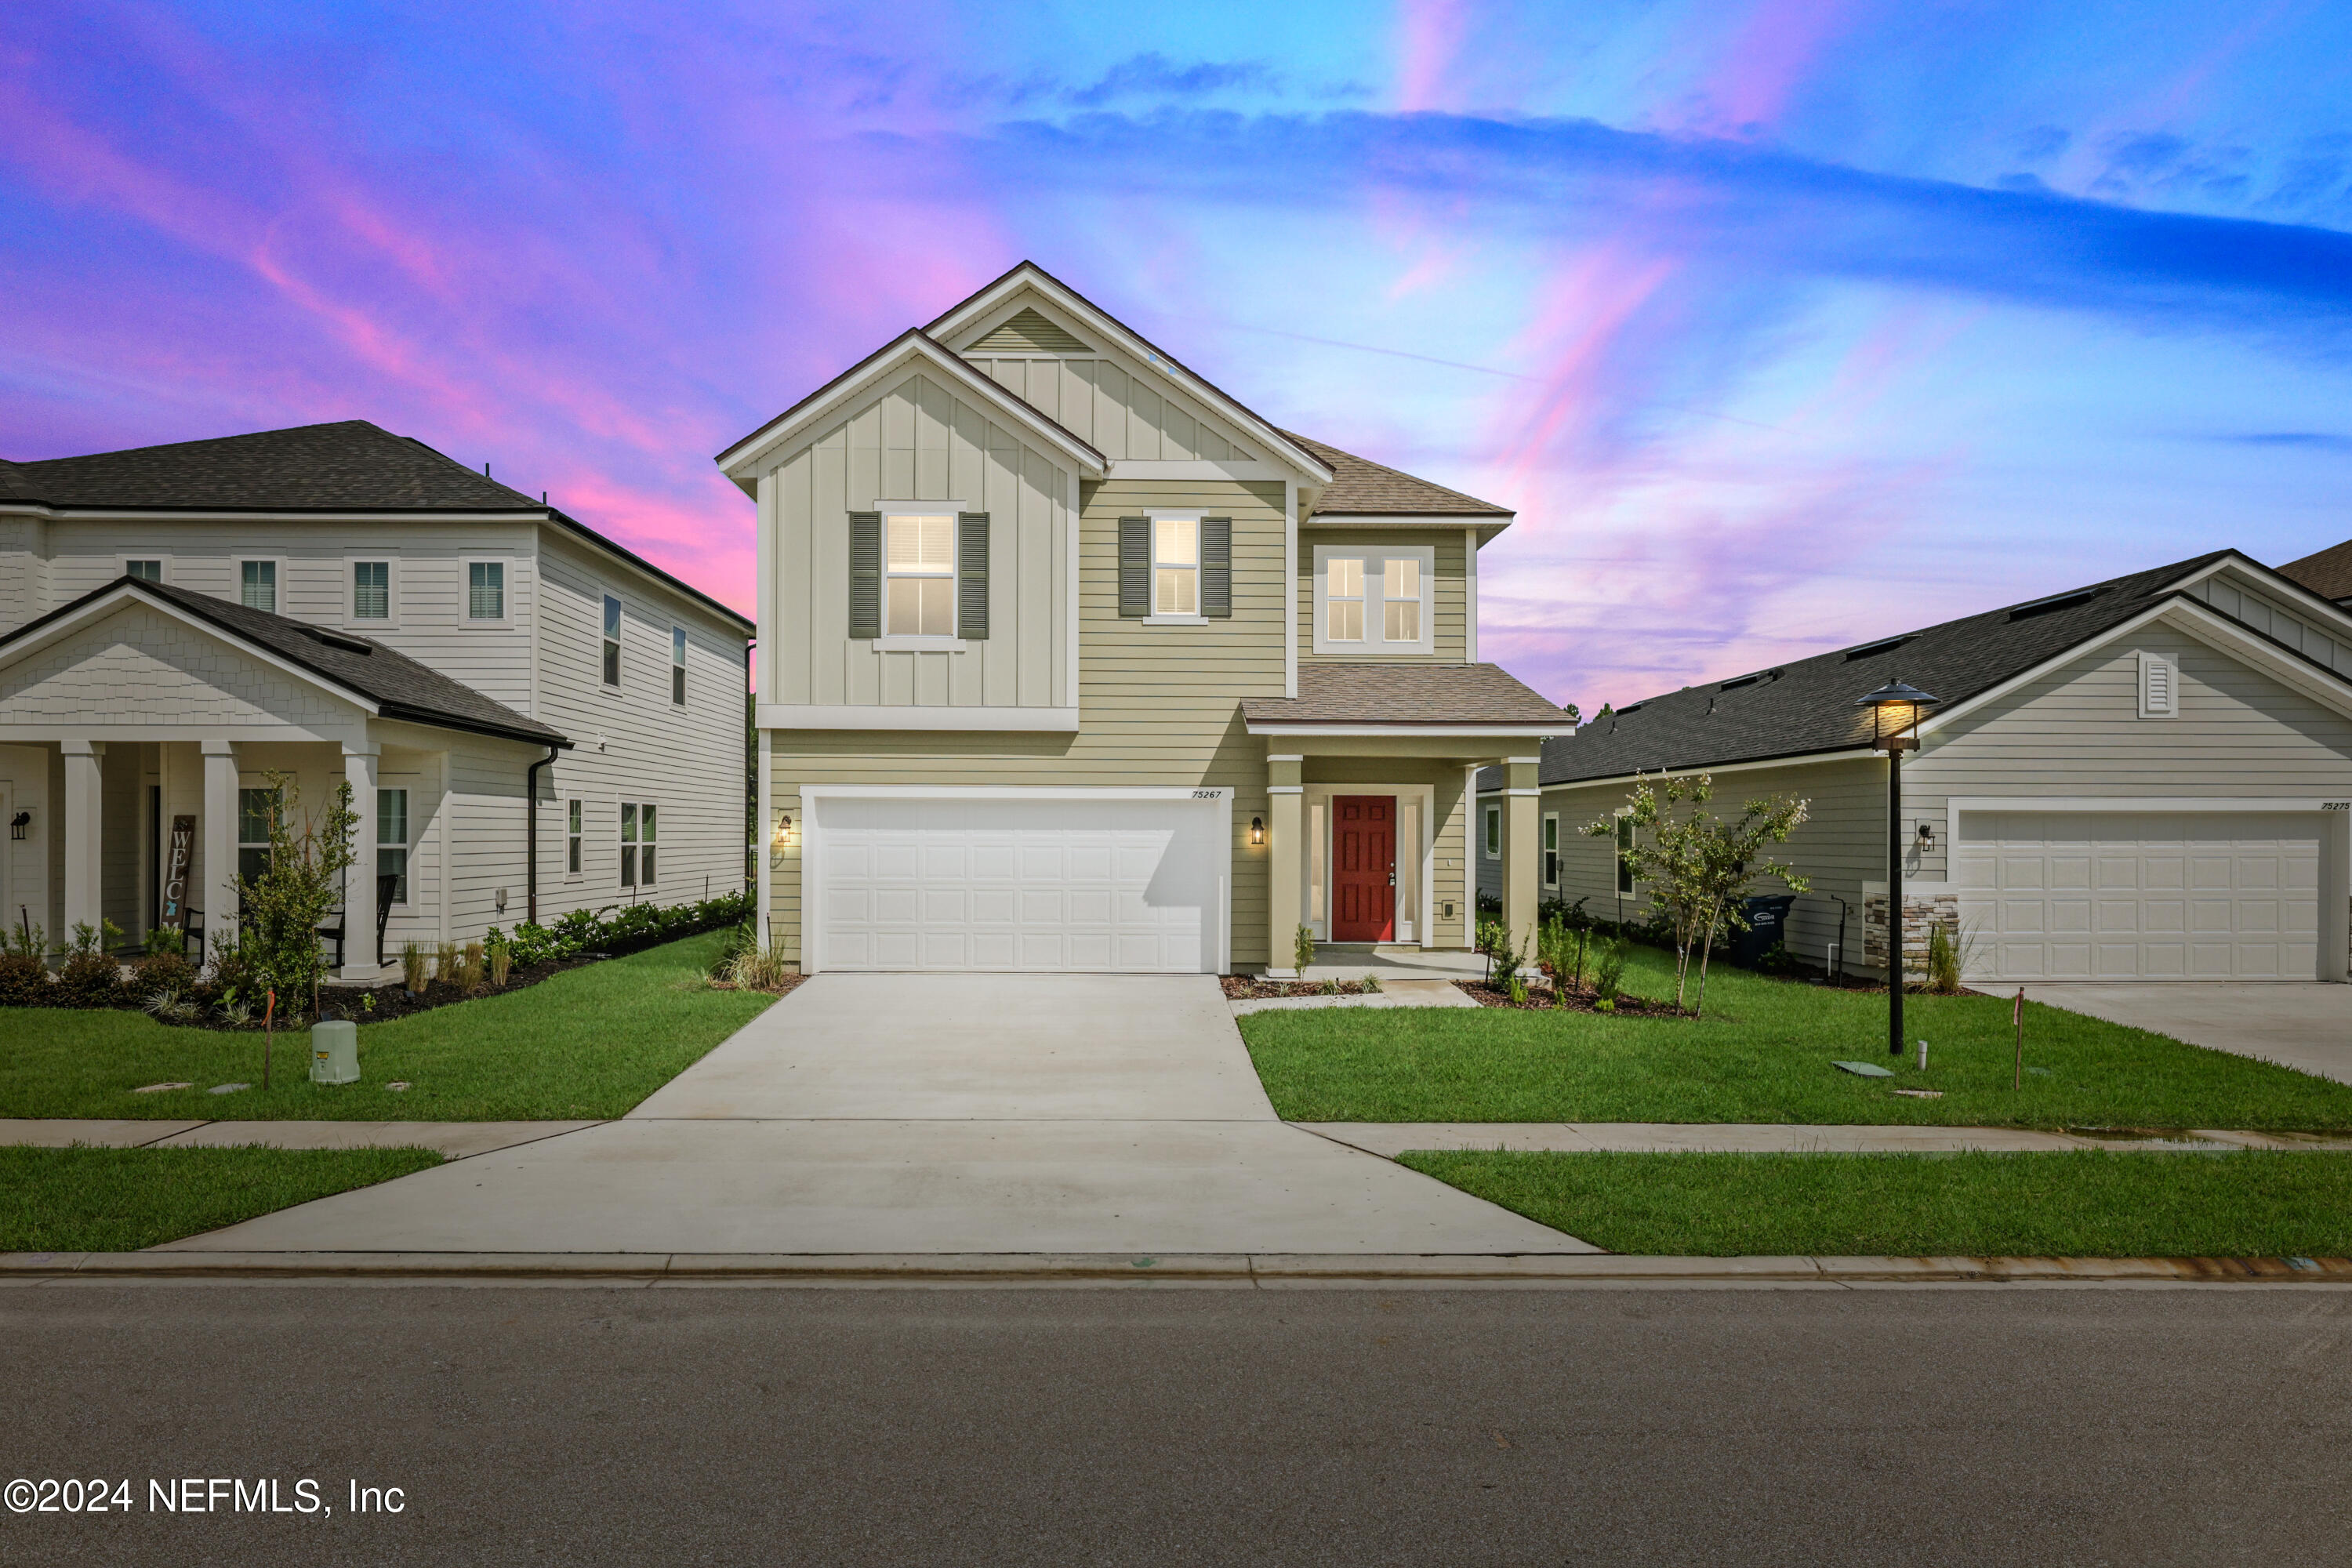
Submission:
<svg viewBox="0 0 2352 1568">
<path fill-rule="evenodd" d="M 2042 1154 L 2056 1150 L 2343 1150 L 2352 1138 L 2197 1128 L 2180 1138 L 2084 1138 L 2011 1126 L 1797 1126 L 1738 1121 L 1298 1121 L 1367 1154 L 1545 1150 L 1562 1154 Z"/>
</svg>

